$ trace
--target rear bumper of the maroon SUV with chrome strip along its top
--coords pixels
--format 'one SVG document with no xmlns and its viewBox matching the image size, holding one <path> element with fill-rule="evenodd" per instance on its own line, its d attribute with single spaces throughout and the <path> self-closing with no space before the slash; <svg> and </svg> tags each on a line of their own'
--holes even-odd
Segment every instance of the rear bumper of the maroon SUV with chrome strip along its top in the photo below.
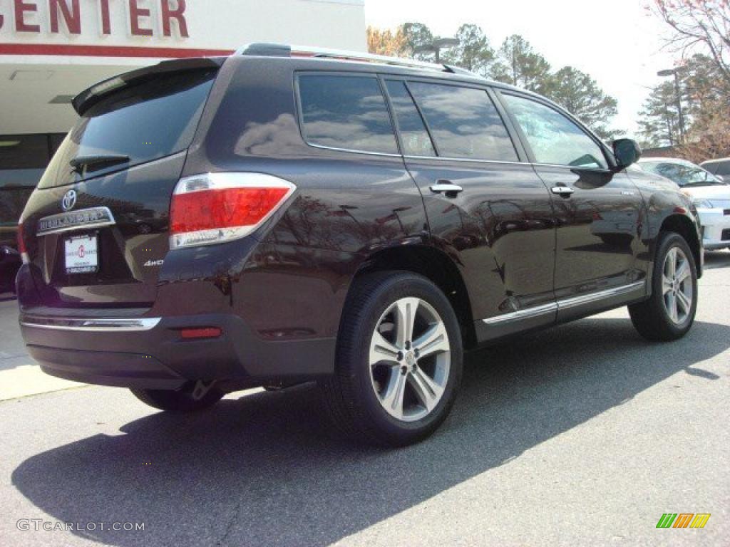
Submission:
<svg viewBox="0 0 730 547">
<path fill-rule="evenodd" d="M 315 379 L 334 370 L 334 338 L 263 340 L 233 314 L 181 317 L 20 315 L 28 352 L 43 371 L 115 387 L 177 389 L 188 381 L 246 386 Z M 219 338 L 180 330 L 217 327 Z"/>
</svg>

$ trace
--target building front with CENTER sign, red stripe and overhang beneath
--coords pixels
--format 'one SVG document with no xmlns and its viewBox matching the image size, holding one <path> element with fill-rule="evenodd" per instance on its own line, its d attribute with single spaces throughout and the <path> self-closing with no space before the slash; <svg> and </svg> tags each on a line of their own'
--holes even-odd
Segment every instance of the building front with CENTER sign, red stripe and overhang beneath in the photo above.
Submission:
<svg viewBox="0 0 730 547">
<path fill-rule="evenodd" d="M 249 42 L 365 51 L 365 26 L 364 0 L 0 0 L 0 135 L 67 131 L 50 101 L 120 71 Z"/>
</svg>

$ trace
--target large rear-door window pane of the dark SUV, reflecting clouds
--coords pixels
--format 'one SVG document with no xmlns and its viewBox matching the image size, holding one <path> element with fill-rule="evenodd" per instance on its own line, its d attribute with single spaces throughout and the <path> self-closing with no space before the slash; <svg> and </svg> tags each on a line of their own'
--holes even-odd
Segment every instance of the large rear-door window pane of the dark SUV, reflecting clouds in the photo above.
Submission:
<svg viewBox="0 0 730 547">
<path fill-rule="evenodd" d="M 517 161 L 507 128 L 487 92 L 453 85 L 409 82 L 439 156 Z"/>
</svg>

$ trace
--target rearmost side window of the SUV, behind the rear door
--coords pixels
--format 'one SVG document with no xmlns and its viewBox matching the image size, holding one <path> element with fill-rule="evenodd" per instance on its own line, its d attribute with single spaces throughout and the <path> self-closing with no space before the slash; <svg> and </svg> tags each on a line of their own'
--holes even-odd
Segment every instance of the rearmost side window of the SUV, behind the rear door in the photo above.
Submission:
<svg viewBox="0 0 730 547">
<path fill-rule="evenodd" d="M 377 78 L 303 74 L 299 100 L 309 144 L 397 154 L 391 117 Z"/>
</svg>

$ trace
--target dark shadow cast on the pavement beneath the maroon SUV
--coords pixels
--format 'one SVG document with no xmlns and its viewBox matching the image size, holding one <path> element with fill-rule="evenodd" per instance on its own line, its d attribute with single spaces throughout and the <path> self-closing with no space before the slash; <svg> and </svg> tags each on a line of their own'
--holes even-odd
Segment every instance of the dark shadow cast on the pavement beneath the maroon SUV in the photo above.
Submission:
<svg viewBox="0 0 730 547">
<path fill-rule="evenodd" d="M 388 451 L 337 438 L 317 389 L 304 386 L 223 400 L 197 416 L 146 416 L 123 435 L 27 459 L 12 484 L 60 521 L 145 522 L 145 532 L 76 532 L 112 545 L 326 545 L 675 373 L 712 381 L 696 363 L 729 346 L 723 325 L 696 323 L 682 341 L 650 345 L 628 319 L 585 319 L 471 354 L 452 416 L 418 446 Z"/>
</svg>

